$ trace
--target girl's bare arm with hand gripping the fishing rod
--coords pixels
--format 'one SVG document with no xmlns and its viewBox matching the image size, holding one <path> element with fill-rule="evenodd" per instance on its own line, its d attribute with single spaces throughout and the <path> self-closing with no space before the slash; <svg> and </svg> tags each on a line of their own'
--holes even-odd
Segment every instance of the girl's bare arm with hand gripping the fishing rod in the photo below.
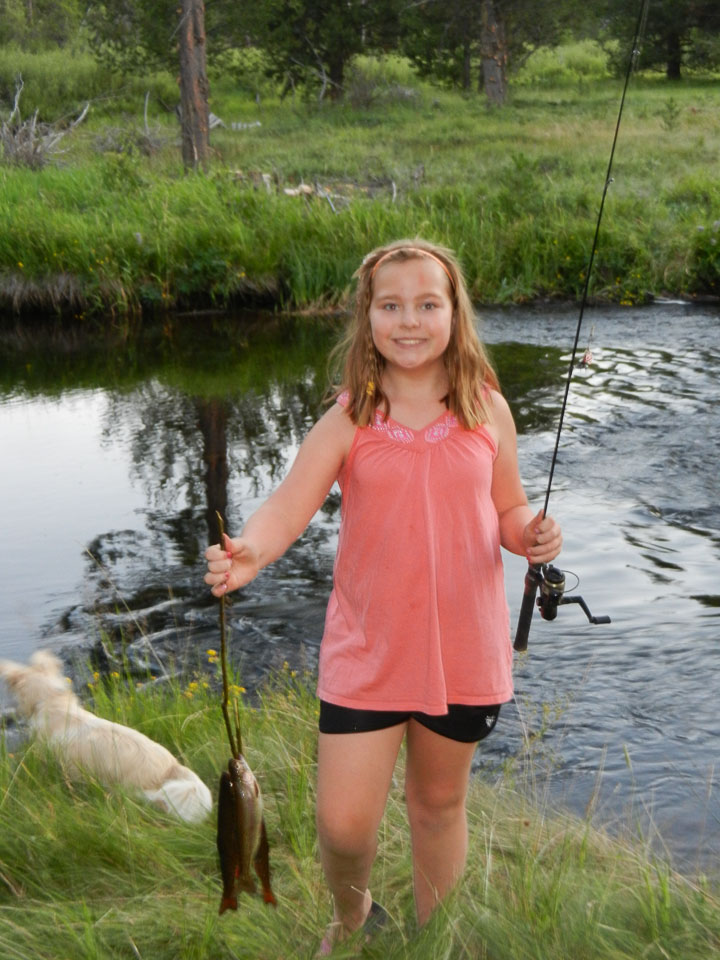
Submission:
<svg viewBox="0 0 720 960">
<path fill-rule="evenodd" d="M 533 514 L 520 480 L 517 432 L 505 398 L 495 391 L 493 432 L 498 453 L 493 465 L 492 499 L 500 521 L 500 542 L 511 553 L 526 556 L 530 563 L 548 563 L 562 546 L 560 527 L 543 511 Z"/>
</svg>

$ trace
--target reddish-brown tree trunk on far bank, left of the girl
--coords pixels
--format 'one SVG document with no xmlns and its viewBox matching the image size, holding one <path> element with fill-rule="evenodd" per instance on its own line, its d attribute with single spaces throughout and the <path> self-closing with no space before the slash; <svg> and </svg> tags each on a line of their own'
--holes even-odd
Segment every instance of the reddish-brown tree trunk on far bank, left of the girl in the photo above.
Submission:
<svg viewBox="0 0 720 960">
<path fill-rule="evenodd" d="M 186 170 L 207 170 L 210 154 L 208 85 L 205 69 L 205 4 L 182 0 L 179 29 L 180 124 Z"/>
</svg>

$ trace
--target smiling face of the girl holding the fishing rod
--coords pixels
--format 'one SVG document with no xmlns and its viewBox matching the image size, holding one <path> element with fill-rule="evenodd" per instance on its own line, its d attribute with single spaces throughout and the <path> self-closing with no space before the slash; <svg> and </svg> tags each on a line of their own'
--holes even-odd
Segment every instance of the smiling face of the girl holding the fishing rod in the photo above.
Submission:
<svg viewBox="0 0 720 960">
<path fill-rule="evenodd" d="M 373 279 L 370 328 L 389 365 L 417 371 L 444 367 L 453 302 L 445 271 L 429 257 L 383 264 Z"/>
</svg>

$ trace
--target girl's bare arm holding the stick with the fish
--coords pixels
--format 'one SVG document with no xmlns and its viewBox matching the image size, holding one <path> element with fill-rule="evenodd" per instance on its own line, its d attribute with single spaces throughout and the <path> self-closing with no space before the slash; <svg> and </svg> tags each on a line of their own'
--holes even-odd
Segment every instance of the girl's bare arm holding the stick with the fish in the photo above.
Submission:
<svg viewBox="0 0 720 960">
<path fill-rule="evenodd" d="M 345 410 L 335 404 L 305 437 L 287 477 L 248 519 L 242 535 L 208 548 L 205 583 L 216 597 L 245 586 L 300 536 L 337 479 L 354 434 Z"/>
</svg>

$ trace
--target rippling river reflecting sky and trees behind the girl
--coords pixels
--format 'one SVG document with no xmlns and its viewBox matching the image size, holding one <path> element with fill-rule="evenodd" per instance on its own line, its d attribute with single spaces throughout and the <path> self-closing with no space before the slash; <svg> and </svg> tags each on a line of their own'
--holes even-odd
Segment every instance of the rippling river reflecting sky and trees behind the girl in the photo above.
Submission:
<svg viewBox="0 0 720 960">
<path fill-rule="evenodd" d="M 531 501 L 547 483 L 574 309 L 482 311 L 518 423 Z M 480 776 L 638 832 L 691 872 L 720 852 L 720 313 L 587 310 L 555 473 L 558 563 L 579 606 L 535 616 L 516 700 Z M 321 410 L 332 323 L 178 317 L 103 336 L 52 324 L 0 333 L 0 655 L 50 646 L 69 665 L 162 673 L 218 644 L 202 581 L 214 510 L 231 531 L 278 482 Z M 339 496 L 233 600 L 248 688 L 312 671 Z M 513 622 L 525 562 L 506 556 Z M 78 674 L 81 680 L 81 672 Z M 7 700 L 0 701 L 7 707 Z"/>
</svg>

